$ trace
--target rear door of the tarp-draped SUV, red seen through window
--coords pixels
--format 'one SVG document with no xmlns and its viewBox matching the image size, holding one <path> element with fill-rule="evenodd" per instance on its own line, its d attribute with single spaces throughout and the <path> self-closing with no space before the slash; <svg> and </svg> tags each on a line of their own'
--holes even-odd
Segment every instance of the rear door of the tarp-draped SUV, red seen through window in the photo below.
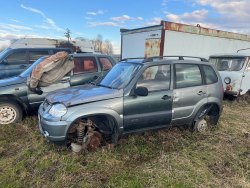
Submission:
<svg viewBox="0 0 250 188">
<path fill-rule="evenodd" d="M 74 57 L 75 68 L 71 76 L 70 85 L 87 84 L 101 76 L 96 58 L 93 56 Z"/>
</svg>

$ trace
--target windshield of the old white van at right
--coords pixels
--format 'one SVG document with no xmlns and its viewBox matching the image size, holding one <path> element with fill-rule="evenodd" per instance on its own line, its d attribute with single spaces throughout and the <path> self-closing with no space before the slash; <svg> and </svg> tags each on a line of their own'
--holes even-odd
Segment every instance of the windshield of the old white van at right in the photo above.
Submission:
<svg viewBox="0 0 250 188">
<path fill-rule="evenodd" d="M 244 57 L 212 57 L 209 62 L 214 64 L 218 71 L 239 71 L 242 69 Z"/>
</svg>

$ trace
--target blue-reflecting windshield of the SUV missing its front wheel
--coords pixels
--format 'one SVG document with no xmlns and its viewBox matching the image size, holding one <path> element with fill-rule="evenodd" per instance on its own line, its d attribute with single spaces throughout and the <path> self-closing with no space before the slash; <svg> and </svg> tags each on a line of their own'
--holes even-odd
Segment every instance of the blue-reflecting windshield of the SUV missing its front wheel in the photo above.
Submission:
<svg viewBox="0 0 250 188">
<path fill-rule="evenodd" d="M 138 63 L 118 63 L 98 85 L 114 89 L 122 89 L 127 86 L 140 67 L 141 65 Z"/>
</svg>

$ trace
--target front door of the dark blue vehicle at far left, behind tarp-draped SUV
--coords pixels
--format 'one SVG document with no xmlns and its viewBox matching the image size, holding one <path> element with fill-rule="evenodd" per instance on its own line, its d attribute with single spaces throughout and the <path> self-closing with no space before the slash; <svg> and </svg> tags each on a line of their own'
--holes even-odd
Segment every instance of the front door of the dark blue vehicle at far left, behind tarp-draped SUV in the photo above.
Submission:
<svg viewBox="0 0 250 188">
<path fill-rule="evenodd" d="M 14 49 L 7 54 L 2 60 L 1 66 L 1 78 L 7 78 L 11 76 L 19 75 L 21 72 L 27 69 L 27 50 Z"/>
</svg>

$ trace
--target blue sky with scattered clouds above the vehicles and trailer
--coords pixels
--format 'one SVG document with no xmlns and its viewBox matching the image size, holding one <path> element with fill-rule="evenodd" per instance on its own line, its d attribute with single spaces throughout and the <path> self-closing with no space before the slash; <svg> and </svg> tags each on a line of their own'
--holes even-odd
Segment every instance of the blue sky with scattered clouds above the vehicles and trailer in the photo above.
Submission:
<svg viewBox="0 0 250 188">
<path fill-rule="evenodd" d="M 250 34 L 250 0 L 8 0 L 0 2 L 0 49 L 22 37 L 94 39 L 120 50 L 120 28 L 160 20 Z"/>
</svg>

